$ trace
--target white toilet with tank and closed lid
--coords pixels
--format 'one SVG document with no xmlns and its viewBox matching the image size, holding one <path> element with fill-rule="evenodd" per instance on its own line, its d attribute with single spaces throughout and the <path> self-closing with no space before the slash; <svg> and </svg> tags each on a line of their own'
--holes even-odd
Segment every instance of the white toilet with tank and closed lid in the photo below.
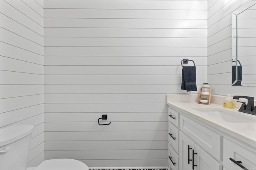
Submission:
<svg viewBox="0 0 256 170">
<path fill-rule="evenodd" d="M 0 129 L 0 170 L 88 170 L 74 159 L 44 160 L 39 166 L 26 168 L 33 125 L 12 125 Z"/>
</svg>

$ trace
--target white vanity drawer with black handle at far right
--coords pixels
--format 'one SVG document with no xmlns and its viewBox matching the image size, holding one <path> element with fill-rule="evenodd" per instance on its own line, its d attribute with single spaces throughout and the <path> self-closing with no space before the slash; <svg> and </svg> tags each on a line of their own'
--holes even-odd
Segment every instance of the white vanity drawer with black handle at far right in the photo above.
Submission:
<svg viewBox="0 0 256 170">
<path fill-rule="evenodd" d="M 241 147 L 240 145 L 224 139 L 223 164 L 230 170 L 241 170 L 237 164 L 232 162 L 230 158 L 241 161 L 242 166 L 249 170 L 256 169 L 256 153 Z"/>
</svg>

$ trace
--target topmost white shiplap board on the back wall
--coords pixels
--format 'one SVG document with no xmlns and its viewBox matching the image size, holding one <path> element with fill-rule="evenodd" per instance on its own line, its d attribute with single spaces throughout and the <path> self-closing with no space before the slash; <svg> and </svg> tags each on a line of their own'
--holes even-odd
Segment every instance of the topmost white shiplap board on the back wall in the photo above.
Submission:
<svg viewBox="0 0 256 170">
<path fill-rule="evenodd" d="M 207 1 L 179 0 L 45 0 L 44 8 L 75 8 L 75 9 L 159 9 L 159 10 L 207 10 Z"/>
</svg>

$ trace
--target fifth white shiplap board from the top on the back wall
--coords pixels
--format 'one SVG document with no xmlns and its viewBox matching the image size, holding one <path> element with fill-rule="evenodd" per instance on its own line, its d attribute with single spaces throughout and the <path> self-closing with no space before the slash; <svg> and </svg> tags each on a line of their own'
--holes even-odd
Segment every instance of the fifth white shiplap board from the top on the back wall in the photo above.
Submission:
<svg viewBox="0 0 256 170">
<path fill-rule="evenodd" d="M 57 47 L 206 47 L 207 39 L 45 37 L 44 42 Z"/>
</svg>

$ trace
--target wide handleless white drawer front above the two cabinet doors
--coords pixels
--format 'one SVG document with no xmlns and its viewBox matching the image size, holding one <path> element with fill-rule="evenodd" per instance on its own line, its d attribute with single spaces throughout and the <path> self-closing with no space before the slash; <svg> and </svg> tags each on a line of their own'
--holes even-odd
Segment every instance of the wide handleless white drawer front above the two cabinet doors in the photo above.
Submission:
<svg viewBox="0 0 256 170">
<path fill-rule="evenodd" d="M 180 130 L 218 160 L 223 159 L 223 136 L 180 114 Z"/>
</svg>

